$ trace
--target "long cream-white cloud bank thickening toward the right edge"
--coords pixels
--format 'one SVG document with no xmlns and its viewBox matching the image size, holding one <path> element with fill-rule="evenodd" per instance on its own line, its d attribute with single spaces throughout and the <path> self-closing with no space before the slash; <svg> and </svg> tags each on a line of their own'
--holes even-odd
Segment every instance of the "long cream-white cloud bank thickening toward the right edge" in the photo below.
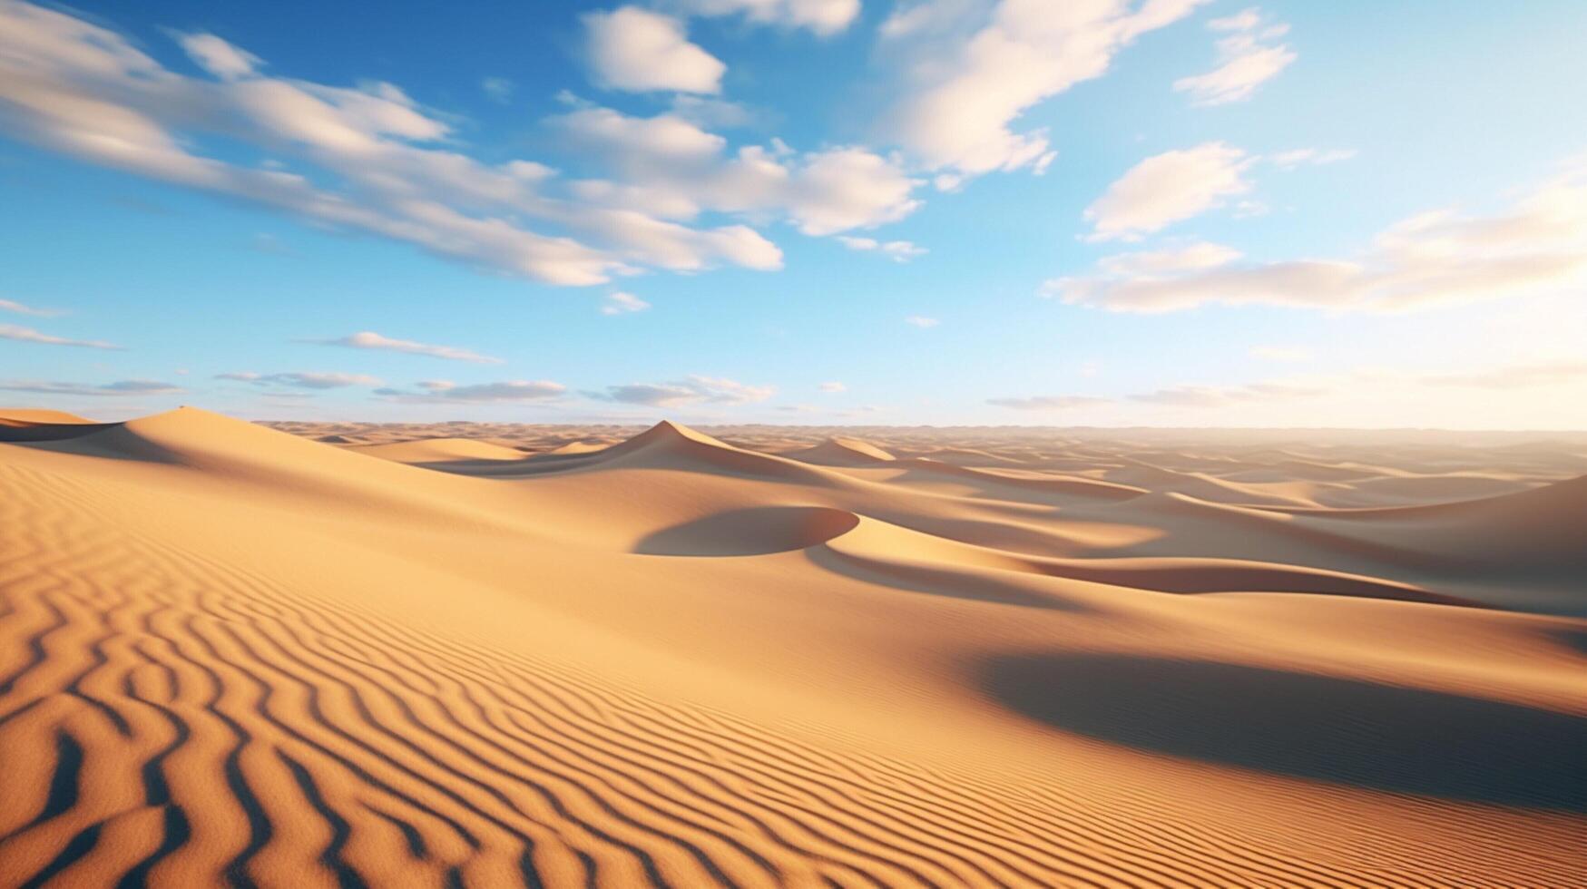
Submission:
<svg viewBox="0 0 1587 889">
<path fill-rule="evenodd" d="M 1579 286 L 1587 273 L 1587 162 L 1490 216 L 1422 213 L 1355 259 L 1219 262 L 1143 270 L 1111 257 L 1098 273 L 1047 281 L 1065 302 L 1160 313 L 1200 305 L 1411 311 Z"/>
</svg>

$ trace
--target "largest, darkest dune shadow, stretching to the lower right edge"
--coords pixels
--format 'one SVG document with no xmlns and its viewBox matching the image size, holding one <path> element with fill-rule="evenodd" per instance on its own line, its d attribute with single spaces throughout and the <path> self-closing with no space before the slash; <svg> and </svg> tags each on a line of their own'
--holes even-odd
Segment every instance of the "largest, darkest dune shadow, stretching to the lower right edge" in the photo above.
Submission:
<svg viewBox="0 0 1587 889">
<path fill-rule="evenodd" d="M 1587 719 L 1233 664 L 1009 656 L 982 686 L 1054 729 L 1374 791 L 1587 813 Z"/>
</svg>

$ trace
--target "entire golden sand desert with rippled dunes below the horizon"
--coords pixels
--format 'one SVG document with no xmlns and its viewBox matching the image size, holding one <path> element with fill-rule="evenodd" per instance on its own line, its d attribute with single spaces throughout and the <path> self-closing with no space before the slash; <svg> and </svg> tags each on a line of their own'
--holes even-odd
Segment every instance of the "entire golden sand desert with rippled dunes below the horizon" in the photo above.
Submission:
<svg viewBox="0 0 1587 889">
<path fill-rule="evenodd" d="M 1587 884 L 1581 437 L 3 416 L 0 886 Z"/>
</svg>

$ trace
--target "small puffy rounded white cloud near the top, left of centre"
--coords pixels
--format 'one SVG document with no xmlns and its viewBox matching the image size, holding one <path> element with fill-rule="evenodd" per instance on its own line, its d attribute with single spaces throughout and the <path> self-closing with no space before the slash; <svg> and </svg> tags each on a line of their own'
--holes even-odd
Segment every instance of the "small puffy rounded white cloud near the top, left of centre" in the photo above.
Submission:
<svg viewBox="0 0 1587 889">
<path fill-rule="evenodd" d="M 671 16 L 621 6 L 584 16 L 595 79 L 627 92 L 720 92 L 727 65 L 689 43 Z"/>
</svg>

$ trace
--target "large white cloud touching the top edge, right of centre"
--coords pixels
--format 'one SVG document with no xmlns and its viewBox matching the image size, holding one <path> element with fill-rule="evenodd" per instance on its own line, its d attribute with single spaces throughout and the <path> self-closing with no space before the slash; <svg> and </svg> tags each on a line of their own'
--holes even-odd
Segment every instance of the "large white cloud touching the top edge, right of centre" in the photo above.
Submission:
<svg viewBox="0 0 1587 889">
<path fill-rule="evenodd" d="M 886 125 L 933 170 L 1041 167 L 1052 159 L 1046 132 L 1014 132 L 1014 121 L 1101 76 L 1119 49 L 1200 3 L 1000 0 L 990 14 L 962 0 L 901 6 L 882 24 L 884 51 L 905 71 Z"/>
</svg>

